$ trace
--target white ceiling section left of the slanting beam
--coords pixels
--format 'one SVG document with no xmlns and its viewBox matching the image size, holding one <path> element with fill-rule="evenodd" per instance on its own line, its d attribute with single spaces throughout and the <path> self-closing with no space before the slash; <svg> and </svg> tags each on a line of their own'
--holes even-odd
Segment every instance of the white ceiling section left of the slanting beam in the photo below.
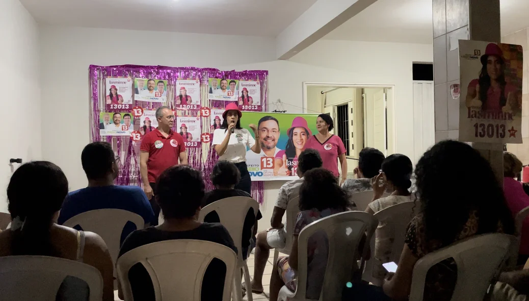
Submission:
<svg viewBox="0 0 529 301">
<path fill-rule="evenodd" d="M 40 24 L 276 37 L 316 0 L 20 0 Z"/>
</svg>

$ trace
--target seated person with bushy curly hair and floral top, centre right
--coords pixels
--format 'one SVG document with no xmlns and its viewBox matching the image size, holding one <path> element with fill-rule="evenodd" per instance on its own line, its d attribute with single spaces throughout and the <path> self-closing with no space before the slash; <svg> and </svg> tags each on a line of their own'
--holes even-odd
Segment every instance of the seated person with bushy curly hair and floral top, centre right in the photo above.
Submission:
<svg viewBox="0 0 529 301">
<path fill-rule="evenodd" d="M 302 229 L 318 219 L 346 211 L 347 194 L 340 188 L 332 172 L 317 168 L 304 174 L 299 189 L 299 214 L 294 226 L 292 250 L 289 256 L 275 262 L 276 270 L 270 279 L 270 300 L 276 301 L 279 290 L 286 285 L 296 291 L 298 269 L 297 240 Z M 323 233 L 309 238 L 307 250 L 307 299 L 318 299 L 323 285 L 323 276 L 329 253 L 329 242 Z"/>
</svg>

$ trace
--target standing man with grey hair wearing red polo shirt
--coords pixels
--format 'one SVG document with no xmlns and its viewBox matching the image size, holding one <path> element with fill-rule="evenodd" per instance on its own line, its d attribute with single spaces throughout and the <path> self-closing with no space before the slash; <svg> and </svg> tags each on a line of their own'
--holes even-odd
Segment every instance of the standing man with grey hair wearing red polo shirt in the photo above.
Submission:
<svg viewBox="0 0 529 301">
<path fill-rule="evenodd" d="M 163 106 L 156 110 L 158 127 L 143 137 L 140 146 L 140 173 L 143 181 L 143 191 L 151 202 L 154 220 L 151 226 L 158 225 L 160 207 L 154 200 L 154 191 L 158 176 L 168 167 L 187 165 L 186 146 L 184 138 L 171 130 L 175 123 L 175 116 L 169 107 Z"/>
</svg>

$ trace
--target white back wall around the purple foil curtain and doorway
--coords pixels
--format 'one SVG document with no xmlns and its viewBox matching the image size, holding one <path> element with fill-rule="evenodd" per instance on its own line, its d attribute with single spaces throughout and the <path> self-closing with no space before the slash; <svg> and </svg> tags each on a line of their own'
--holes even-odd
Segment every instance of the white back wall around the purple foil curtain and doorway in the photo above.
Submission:
<svg viewBox="0 0 529 301">
<path fill-rule="evenodd" d="M 162 46 L 136 47 L 145 36 L 152 40 L 166 41 Z M 213 36 L 206 34 L 184 34 L 174 32 L 145 32 L 127 30 L 106 30 L 89 28 L 61 28 L 55 26 L 44 26 L 41 28 L 41 85 L 42 102 L 46 105 L 42 108 L 43 122 L 42 131 L 46 139 L 42 143 L 42 154 L 44 158 L 57 163 L 65 170 L 71 189 L 78 189 L 86 185 L 86 179 L 81 168 L 80 152 L 89 141 L 88 134 L 88 66 L 93 65 L 165 65 L 165 66 L 196 66 L 213 67 L 219 69 L 259 69 L 269 71 L 269 103 L 281 99 L 283 107 L 289 113 L 303 112 L 303 82 L 322 83 L 366 83 L 366 84 L 397 84 L 397 103 L 400 99 L 409 99 L 412 103 L 412 60 L 431 61 L 431 47 L 405 45 L 394 45 L 376 43 L 383 45 L 384 51 L 377 54 L 390 56 L 397 63 L 391 64 L 385 69 L 377 68 L 381 64 L 373 63 L 371 59 L 355 59 L 356 66 L 350 64 L 351 51 L 358 45 L 344 44 L 347 49 L 335 53 L 336 49 L 321 48 L 320 42 L 298 54 L 291 61 L 274 60 L 274 42 L 271 39 L 256 37 L 237 36 Z M 109 47 L 120 41 L 119 45 L 125 45 L 123 49 Z M 182 42 L 186 48 L 178 48 Z M 241 43 L 244 41 L 244 43 Z M 324 44 L 341 41 L 324 41 Z M 345 42 L 350 43 L 350 42 Z M 211 45 L 226 45 L 226 47 L 211 47 Z M 366 45 L 369 45 L 367 43 Z M 316 47 L 313 49 L 313 47 Z M 371 48 L 366 48 L 369 52 Z M 400 52 L 394 53 L 394 48 Z M 418 48 L 418 49 L 416 49 Z M 405 50 L 410 53 L 405 54 Z M 321 51 L 329 52 L 321 52 Z M 316 52 L 315 52 L 316 51 Z M 316 55 L 317 51 L 320 51 Z M 364 50 L 361 50 L 364 51 Z M 361 52 L 360 51 L 360 52 Z M 425 53 L 426 52 L 426 53 Z M 404 53 L 404 54 L 403 54 Z M 342 55 L 341 58 L 329 58 L 329 56 Z M 409 64 L 398 63 L 401 55 L 405 55 Z M 384 62 L 389 58 L 381 58 Z M 342 65 L 348 66 L 345 68 Z M 326 64 L 322 64 L 322 61 Z M 359 66 L 366 65 L 366 66 Z M 409 66 L 408 66 L 409 65 Z M 396 68 L 400 68 L 400 75 Z M 388 75 L 390 74 L 390 76 Z M 409 81 L 405 78 L 409 76 Z M 57 83 L 61 84 L 58 93 Z M 408 89 L 409 93 L 404 92 Z M 409 94 L 409 95 L 408 95 Z M 401 132 L 412 131 L 411 119 L 413 109 L 409 112 L 404 108 L 407 100 L 403 100 L 403 108 L 400 117 L 403 122 Z M 397 107 L 399 107 L 397 105 Z M 407 124 L 409 123 L 409 127 Z M 68 126 L 70 125 L 70 126 Z M 406 135 L 402 135 L 406 136 Z M 412 135 L 413 137 L 413 135 Z M 399 137 L 397 137 L 398 139 Z M 403 137 L 404 139 L 406 137 Z M 66 146 L 67 143 L 67 147 Z M 413 143 L 413 140 L 412 140 Z M 400 144 L 406 153 L 413 145 Z M 265 202 L 261 209 L 263 219 L 259 225 L 260 229 L 269 227 L 273 203 L 277 197 L 281 181 L 266 182 Z"/>
</svg>

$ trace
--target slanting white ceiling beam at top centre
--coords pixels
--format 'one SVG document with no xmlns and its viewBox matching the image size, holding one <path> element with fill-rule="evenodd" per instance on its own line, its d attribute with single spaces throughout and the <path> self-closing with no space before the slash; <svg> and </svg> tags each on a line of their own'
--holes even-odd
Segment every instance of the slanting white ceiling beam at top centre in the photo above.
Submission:
<svg viewBox="0 0 529 301">
<path fill-rule="evenodd" d="M 276 38 L 276 56 L 289 59 L 377 0 L 318 0 Z"/>
</svg>

